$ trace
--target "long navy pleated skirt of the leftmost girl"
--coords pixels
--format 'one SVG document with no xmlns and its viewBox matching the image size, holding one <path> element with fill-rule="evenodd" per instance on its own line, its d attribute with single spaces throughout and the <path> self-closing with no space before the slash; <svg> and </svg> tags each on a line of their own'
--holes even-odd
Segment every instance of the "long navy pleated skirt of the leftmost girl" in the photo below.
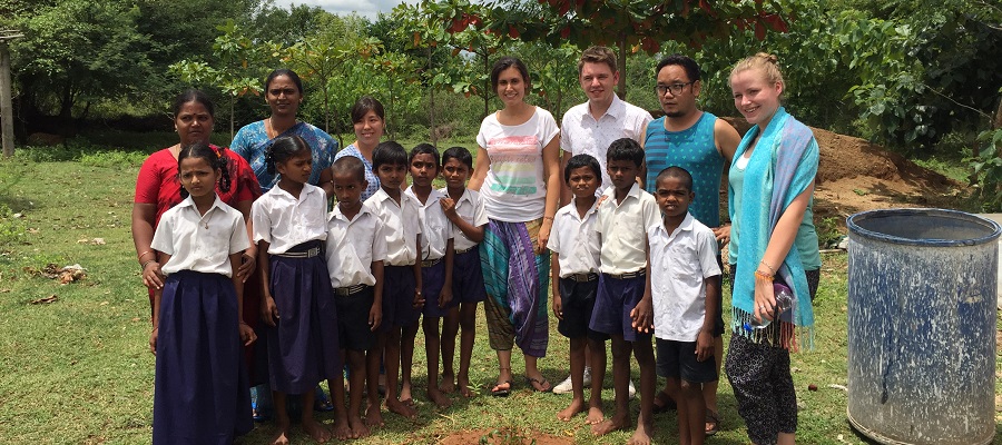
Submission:
<svg viewBox="0 0 1002 445">
<path fill-rule="evenodd" d="M 154 444 L 232 444 L 254 426 L 236 290 L 218 274 L 181 270 L 164 284 Z"/>
</svg>

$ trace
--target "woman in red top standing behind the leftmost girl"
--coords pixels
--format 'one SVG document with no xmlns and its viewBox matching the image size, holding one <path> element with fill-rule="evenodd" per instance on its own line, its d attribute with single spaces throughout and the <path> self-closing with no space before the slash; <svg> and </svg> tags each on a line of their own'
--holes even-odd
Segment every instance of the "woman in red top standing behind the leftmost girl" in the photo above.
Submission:
<svg viewBox="0 0 1002 445">
<path fill-rule="evenodd" d="M 213 132 L 213 101 L 204 92 L 189 89 L 181 92 L 174 100 L 171 115 L 174 128 L 180 141 L 171 147 L 156 151 L 143 162 L 139 168 L 139 177 L 136 179 L 136 200 L 132 204 L 132 243 L 136 245 L 136 255 L 143 269 L 143 284 L 148 288 L 163 287 L 163 274 L 160 264 L 157 263 L 157 254 L 149 246 L 160 215 L 181 201 L 180 182 L 177 179 L 177 154 L 181 147 L 195 142 L 209 144 Z M 261 186 L 257 177 L 250 170 L 250 166 L 240 156 L 225 148 L 210 146 L 217 156 L 224 156 L 228 160 L 228 169 L 233 184 L 229 191 L 220 191 L 216 188 L 219 199 L 228 206 L 244 214 L 244 220 L 250 221 L 250 204 L 261 196 Z M 249 229 L 248 229 L 249 236 Z M 248 281 L 244 295 L 244 320 L 252 327 L 259 319 L 258 300 L 261 285 L 256 283 L 256 276 L 252 273 L 256 269 L 255 258 L 257 253 L 254 246 L 244 251 L 244 263 L 237 275 Z M 150 310 L 153 310 L 153 291 L 150 290 Z"/>
</svg>

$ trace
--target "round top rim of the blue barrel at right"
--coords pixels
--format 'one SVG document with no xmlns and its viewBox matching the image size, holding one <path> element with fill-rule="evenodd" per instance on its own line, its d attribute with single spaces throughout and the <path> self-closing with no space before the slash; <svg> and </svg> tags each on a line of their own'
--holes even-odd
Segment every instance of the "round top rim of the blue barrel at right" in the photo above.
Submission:
<svg viewBox="0 0 1002 445">
<path fill-rule="evenodd" d="M 988 235 L 967 239 L 916 239 L 874 231 L 862 227 L 862 224 L 867 220 L 902 217 L 942 218 L 964 221 L 974 226 L 982 226 Z M 967 214 L 964 211 L 936 208 L 896 208 L 861 211 L 846 218 L 845 225 L 848 228 L 849 235 L 858 235 L 868 239 L 908 246 L 978 246 L 986 243 L 993 243 L 999 239 L 1000 235 L 1002 235 L 1002 227 L 1000 227 L 999 224 L 991 219 L 982 218 L 980 216 Z"/>
</svg>

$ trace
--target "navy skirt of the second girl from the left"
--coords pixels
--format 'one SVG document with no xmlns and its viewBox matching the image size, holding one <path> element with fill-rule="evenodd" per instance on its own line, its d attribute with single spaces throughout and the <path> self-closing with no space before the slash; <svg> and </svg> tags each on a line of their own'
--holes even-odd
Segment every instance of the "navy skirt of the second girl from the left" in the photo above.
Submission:
<svg viewBox="0 0 1002 445">
<path fill-rule="evenodd" d="M 291 251 L 308 250 L 307 245 L 314 244 L 299 245 Z M 279 317 L 276 326 L 267 329 L 272 389 L 303 394 L 320 382 L 341 375 L 337 308 L 331 296 L 331 277 L 322 254 L 299 258 L 272 255 L 269 261 L 269 287 Z"/>
</svg>

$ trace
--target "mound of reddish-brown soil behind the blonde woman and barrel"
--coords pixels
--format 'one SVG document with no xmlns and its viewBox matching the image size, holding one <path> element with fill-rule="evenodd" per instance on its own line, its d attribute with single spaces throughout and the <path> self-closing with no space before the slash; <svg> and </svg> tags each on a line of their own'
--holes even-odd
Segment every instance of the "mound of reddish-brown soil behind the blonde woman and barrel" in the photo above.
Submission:
<svg viewBox="0 0 1002 445">
<path fill-rule="evenodd" d="M 741 135 L 744 119 L 724 118 Z M 813 128 L 821 148 L 814 192 L 815 224 L 858 211 L 894 207 L 950 207 L 964 187 L 865 139 Z"/>
</svg>

